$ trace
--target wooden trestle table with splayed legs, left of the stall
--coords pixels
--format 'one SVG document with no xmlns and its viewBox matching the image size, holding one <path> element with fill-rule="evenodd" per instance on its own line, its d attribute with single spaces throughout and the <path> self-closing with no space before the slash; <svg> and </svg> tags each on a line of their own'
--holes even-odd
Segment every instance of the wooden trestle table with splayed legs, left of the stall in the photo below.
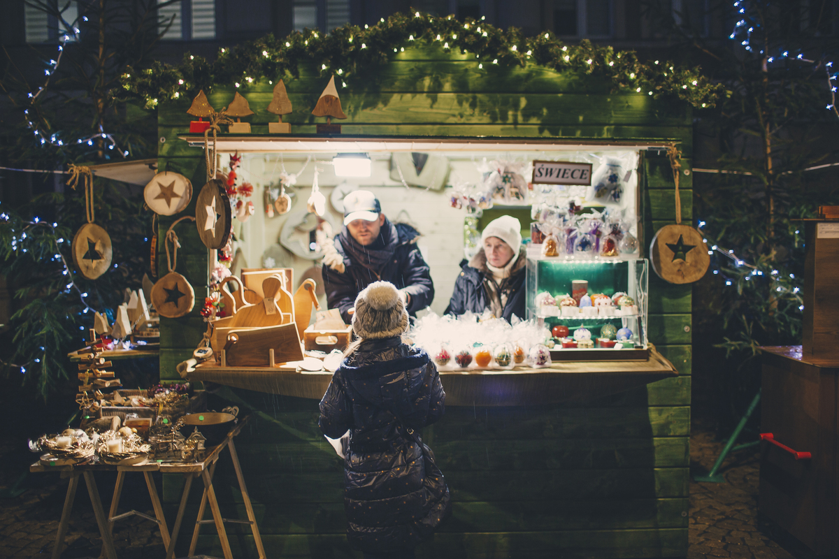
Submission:
<svg viewBox="0 0 839 559">
<path fill-rule="evenodd" d="M 91 504 L 93 505 L 93 513 L 96 516 L 96 525 L 99 527 L 99 534 L 102 536 L 102 556 L 107 559 L 117 559 L 117 551 L 113 546 L 112 531 L 113 522 L 121 520 L 128 516 L 138 515 L 147 520 L 157 522 L 160 526 L 160 536 L 163 539 L 164 546 L 166 546 L 166 559 L 173 559 L 175 557 L 175 543 L 178 541 L 178 534 L 180 532 L 180 525 L 184 519 L 186 510 L 186 502 L 190 496 L 190 488 L 192 487 L 192 480 L 201 477 L 204 482 L 204 493 L 201 495 L 201 506 L 198 509 L 198 517 L 195 519 L 195 526 L 192 531 L 192 540 L 190 541 L 189 555 L 195 555 L 195 546 L 198 544 L 198 535 L 203 524 L 215 524 L 218 532 L 219 541 L 221 542 L 221 550 L 224 552 L 225 559 L 232 559 L 232 551 L 230 542 L 227 540 L 227 531 L 225 530 L 225 522 L 235 522 L 241 524 L 248 524 L 251 526 L 253 533 L 253 541 L 257 546 L 259 559 L 265 559 L 265 549 L 263 547 L 262 537 L 259 536 L 259 528 L 257 526 L 256 515 L 253 514 L 253 505 L 248 495 L 248 489 L 245 487 L 245 479 L 242 476 L 242 467 L 239 464 L 239 457 L 236 453 L 236 447 L 233 445 L 233 437 L 236 437 L 242 431 L 245 423 L 248 422 L 248 417 L 245 417 L 238 423 L 231 432 L 227 433 L 227 437 L 221 443 L 213 448 L 211 452 L 201 460 L 195 463 L 141 463 L 131 466 L 108 466 L 99 463 L 79 464 L 76 466 L 44 466 L 41 463 L 34 463 L 29 467 L 30 472 L 61 472 L 62 476 L 70 478 L 70 484 L 67 487 L 67 496 L 64 501 L 64 508 L 61 510 L 61 520 L 58 525 L 58 533 L 55 535 L 55 547 L 53 548 L 52 559 L 60 559 L 61 548 L 64 546 L 64 538 L 67 535 L 67 527 L 70 524 L 70 514 L 73 510 L 73 502 L 76 500 L 76 489 L 79 486 L 79 476 L 83 475 L 87 485 L 87 492 L 91 497 Z M 245 510 L 248 513 L 248 520 L 230 520 L 221 516 L 219 510 L 218 500 L 216 499 L 216 490 L 212 484 L 213 474 L 216 470 L 216 463 L 221 456 L 221 451 L 227 448 L 230 451 L 230 459 L 233 463 L 233 469 L 236 471 L 236 478 L 239 483 L 239 489 L 242 492 L 242 501 L 245 505 Z M 113 471 L 117 470 L 117 484 L 114 487 L 113 499 L 111 501 L 111 508 L 109 514 L 105 515 L 105 510 L 102 508 L 102 500 L 99 498 L 99 491 L 96 489 L 96 479 L 94 474 L 98 471 Z M 143 515 L 136 510 L 131 510 L 122 515 L 117 515 L 119 508 L 119 499 L 122 495 L 122 484 L 125 479 L 125 474 L 128 472 L 143 473 L 146 480 L 146 487 L 149 489 L 149 496 L 154 507 L 154 516 Z M 180 506 L 178 507 L 178 514 L 175 516 L 175 523 L 172 525 L 172 533 L 169 536 L 169 529 L 166 525 L 166 519 L 163 513 L 163 506 L 160 504 L 160 498 L 157 487 L 152 479 L 153 472 L 161 472 L 163 474 L 182 474 L 185 477 L 184 492 L 180 497 Z M 210 505 L 212 513 L 212 520 L 204 520 L 206 513 L 206 505 Z"/>
</svg>

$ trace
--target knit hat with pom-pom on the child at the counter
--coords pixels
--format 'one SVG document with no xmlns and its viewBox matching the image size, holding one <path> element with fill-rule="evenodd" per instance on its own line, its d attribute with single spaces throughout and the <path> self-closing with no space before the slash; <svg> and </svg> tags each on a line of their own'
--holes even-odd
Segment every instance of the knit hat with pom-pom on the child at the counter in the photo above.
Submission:
<svg viewBox="0 0 839 559">
<path fill-rule="evenodd" d="M 392 338 L 407 329 L 408 311 L 393 283 L 373 282 L 358 293 L 352 330 L 359 338 Z"/>
</svg>

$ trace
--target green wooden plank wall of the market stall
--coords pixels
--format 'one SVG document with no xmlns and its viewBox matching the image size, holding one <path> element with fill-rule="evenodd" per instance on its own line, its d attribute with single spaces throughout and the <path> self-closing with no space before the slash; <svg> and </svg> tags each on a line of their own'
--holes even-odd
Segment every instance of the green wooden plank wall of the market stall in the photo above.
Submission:
<svg viewBox="0 0 839 559">
<path fill-rule="evenodd" d="M 508 70 L 470 56 L 406 49 L 353 85 L 352 92 L 338 80 L 348 116 L 341 122 L 344 134 L 669 138 L 681 142 L 682 168 L 690 172 L 689 108 L 649 96 L 612 95 L 608 84 L 591 76 L 534 66 Z M 291 122 L 294 134 L 315 132 L 309 113 L 327 79 L 306 70 L 300 80 L 285 80 L 294 113 L 284 121 Z M 211 104 L 226 106 L 234 91 L 211 92 Z M 257 113 L 247 119 L 253 133 L 267 132 L 267 122 L 276 118 L 265 111 L 270 91 L 268 84 L 242 91 Z M 201 150 L 176 139 L 188 126 L 188 106 L 189 101 L 172 101 L 159 108 L 165 138 L 160 166 L 168 162 L 189 170 L 197 191 L 203 184 Z M 647 246 L 654 230 L 674 219 L 673 178 L 664 157 L 647 155 L 639 172 Z M 680 183 L 688 222 L 690 178 L 683 175 Z M 181 258 L 196 274 L 190 281 L 200 298 L 206 272 L 203 279 L 198 275 L 206 266 L 206 251 L 190 240 L 179 252 L 179 268 Z M 649 338 L 680 377 L 597 401 L 448 407 L 424 437 L 446 474 L 453 515 L 433 541 L 420 547 L 419 556 L 685 556 L 690 286 L 671 286 L 650 273 Z M 162 319 L 161 329 L 161 377 L 178 378 L 174 366 L 201 339 L 203 325 L 194 312 L 176 321 Z M 344 537 L 342 463 L 320 435 L 317 402 L 226 388 L 214 397 L 219 398 L 216 409 L 232 401 L 253 413 L 237 448 L 268 556 L 360 557 Z M 236 510 L 244 518 L 227 458 L 216 479 L 222 509 L 229 511 L 225 516 Z M 172 511 L 180 483 L 164 483 Z M 187 518 L 195 515 L 199 498 L 195 490 Z M 210 531 L 205 528 L 198 551 L 220 556 Z M 256 556 L 247 530 L 232 525 L 228 532 L 234 554 Z"/>
</svg>

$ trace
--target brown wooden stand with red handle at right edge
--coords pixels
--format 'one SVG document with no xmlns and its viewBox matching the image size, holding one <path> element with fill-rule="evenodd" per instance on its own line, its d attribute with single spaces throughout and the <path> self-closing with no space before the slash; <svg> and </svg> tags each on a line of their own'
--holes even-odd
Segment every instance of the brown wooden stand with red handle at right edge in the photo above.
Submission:
<svg viewBox="0 0 839 559">
<path fill-rule="evenodd" d="M 839 356 L 802 355 L 800 345 L 761 349 L 758 514 L 817 556 L 839 556 Z"/>
</svg>

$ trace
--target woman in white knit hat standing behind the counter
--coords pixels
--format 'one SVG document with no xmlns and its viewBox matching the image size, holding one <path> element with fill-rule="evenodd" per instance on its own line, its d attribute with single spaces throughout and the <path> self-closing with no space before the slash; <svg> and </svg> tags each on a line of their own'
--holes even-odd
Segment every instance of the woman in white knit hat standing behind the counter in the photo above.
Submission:
<svg viewBox="0 0 839 559">
<path fill-rule="evenodd" d="M 461 270 L 446 314 L 492 312 L 508 322 L 524 318 L 524 268 L 521 223 L 511 215 L 492 220 L 481 233 L 482 251 Z"/>
</svg>

